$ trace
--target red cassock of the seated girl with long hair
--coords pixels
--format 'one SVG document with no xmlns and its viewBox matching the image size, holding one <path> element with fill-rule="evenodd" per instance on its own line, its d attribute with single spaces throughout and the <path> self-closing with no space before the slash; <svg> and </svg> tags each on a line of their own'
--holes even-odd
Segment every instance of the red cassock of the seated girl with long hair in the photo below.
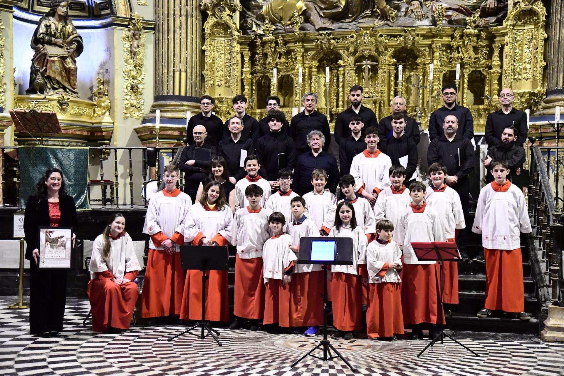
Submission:
<svg viewBox="0 0 564 376">
<path fill-rule="evenodd" d="M 124 278 L 133 281 L 137 271 L 127 273 Z M 88 282 L 88 298 L 92 309 L 92 330 L 108 331 L 109 327 L 129 329 L 131 316 L 139 291 L 135 282 L 116 285 L 112 272 L 95 273 L 96 279 Z"/>
</svg>

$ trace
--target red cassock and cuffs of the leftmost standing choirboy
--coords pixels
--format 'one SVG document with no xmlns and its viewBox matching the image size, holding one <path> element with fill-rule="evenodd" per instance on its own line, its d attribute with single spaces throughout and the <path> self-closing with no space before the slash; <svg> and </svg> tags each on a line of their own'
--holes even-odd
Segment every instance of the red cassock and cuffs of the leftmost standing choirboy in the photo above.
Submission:
<svg viewBox="0 0 564 376">
<path fill-rule="evenodd" d="M 159 232 L 152 235 L 151 239 L 156 246 L 160 246 L 166 236 Z M 178 232 L 174 233 L 171 240 L 178 245 L 184 244 L 184 236 Z M 141 296 L 141 317 L 180 315 L 185 276 L 180 252 L 169 255 L 164 250 L 149 248 Z"/>
</svg>

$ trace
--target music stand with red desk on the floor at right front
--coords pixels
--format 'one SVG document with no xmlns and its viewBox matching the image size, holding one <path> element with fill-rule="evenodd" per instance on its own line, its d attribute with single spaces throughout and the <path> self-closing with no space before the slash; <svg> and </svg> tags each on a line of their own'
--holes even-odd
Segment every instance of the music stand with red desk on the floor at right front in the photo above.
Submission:
<svg viewBox="0 0 564 376">
<path fill-rule="evenodd" d="M 438 288 L 440 289 L 440 312 L 443 312 L 443 262 L 462 262 L 462 256 L 460 255 L 458 247 L 456 246 L 456 243 L 444 241 L 434 241 L 430 243 L 412 242 L 411 246 L 418 260 L 439 262 L 440 277 L 438 278 L 438 280 L 440 281 L 440 283 Z M 435 269 L 435 276 L 436 275 L 437 269 Z M 444 337 L 450 338 L 456 344 L 459 344 L 466 350 L 472 352 L 475 356 L 479 357 L 477 353 L 464 346 L 464 344 L 458 342 L 450 334 L 444 333 L 444 320 L 440 320 L 440 331 L 437 337 L 433 338 L 433 340 L 431 340 L 431 342 L 427 346 L 425 346 L 425 348 L 421 350 L 420 353 L 417 354 L 417 357 L 420 357 L 422 353 L 424 353 L 429 347 L 437 343 L 439 339 L 440 343 L 443 344 Z"/>
</svg>

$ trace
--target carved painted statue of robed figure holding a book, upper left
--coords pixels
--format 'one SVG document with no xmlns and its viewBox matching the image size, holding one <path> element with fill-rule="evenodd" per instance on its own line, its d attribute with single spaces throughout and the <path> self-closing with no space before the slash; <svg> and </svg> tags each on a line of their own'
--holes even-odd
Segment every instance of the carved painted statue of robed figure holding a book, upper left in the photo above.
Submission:
<svg viewBox="0 0 564 376">
<path fill-rule="evenodd" d="M 76 57 L 82 53 L 82 37 L 68 17 L 67 1 L 51 1 L 51 9 L 39 19 L 31 47 L 35 54 L 28 94 L 78 96 Z"/>
</svg>

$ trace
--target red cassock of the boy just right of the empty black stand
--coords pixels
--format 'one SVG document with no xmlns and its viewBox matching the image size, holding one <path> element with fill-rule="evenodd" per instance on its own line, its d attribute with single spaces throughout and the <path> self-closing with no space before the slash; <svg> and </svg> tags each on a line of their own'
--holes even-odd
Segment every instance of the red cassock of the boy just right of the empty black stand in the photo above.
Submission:
<svg viewBox="0 0 564 376">
<path fill-rule="evenodd" d="M 262 257 L 235 260 L 235 307 L 233 315 L 244 319 L 262 319 L 265 312 L 265 283 Z"/>
</svg>

